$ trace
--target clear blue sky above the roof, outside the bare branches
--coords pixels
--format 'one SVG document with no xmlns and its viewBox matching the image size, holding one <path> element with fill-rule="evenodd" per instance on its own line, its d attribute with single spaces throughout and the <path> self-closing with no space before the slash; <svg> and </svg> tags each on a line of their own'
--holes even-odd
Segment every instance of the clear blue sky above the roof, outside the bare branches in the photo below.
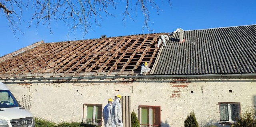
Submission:
<svg viewBox="0 0 256 127">
<path fill-rule="evenodd" d="M 118 0 L 117 0 L 118 1 Z M 71 40 L 85 40 L 107 37 L 127 36 L 133 34 L 148 34 L 160 32 L 173 32 L 176 28 L 183 30 L 198 30 L 208 28 L 219 28 L 228 26 L 243 26 L 256 24 L 256 0 L 156 0 L 159 10 L 150 9 L 150 30 L 143 29 L 144 17 L 134 8 L 130 8 L 133 20 L 126 18 L 124 22 L 122 12 L 124 3 L 121 0 L 116 9 L 109 10 L 115 16 L 102 15 L 99 19 L 100 26 L 92 24 L 92 29 L 83 34 L 81 29 L 76 33 L 69 32 L 68 27 L 62 22 L 52 24 L 52 31 L 44 25 L 27 28 L 28 20 L 21 21 L 20 32 L 13 33 L 8 26 L 5 17 L 1 17 L 0 32 L 0 57 L 24 48 L 35 42 L 43 40 L 45 43 L 63 42 Z M 118 1 L 119 2 L 119 1 Z M 132 6 L 132 5 L 130 5 Z M 23 16 L 29 17 L 27 13 Z"/>
</svg>

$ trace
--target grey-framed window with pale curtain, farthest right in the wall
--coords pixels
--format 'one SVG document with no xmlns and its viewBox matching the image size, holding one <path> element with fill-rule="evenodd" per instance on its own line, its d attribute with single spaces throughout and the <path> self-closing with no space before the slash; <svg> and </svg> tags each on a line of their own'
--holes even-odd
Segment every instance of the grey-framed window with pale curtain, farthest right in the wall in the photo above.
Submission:
<svg viewBox="0 0 256 127">
<path fill-rule="evenodd" d="M 220 122 L 234 123 L 240 119 L 240 103 L 219 103 L 220 104 Z"/>
</svg>

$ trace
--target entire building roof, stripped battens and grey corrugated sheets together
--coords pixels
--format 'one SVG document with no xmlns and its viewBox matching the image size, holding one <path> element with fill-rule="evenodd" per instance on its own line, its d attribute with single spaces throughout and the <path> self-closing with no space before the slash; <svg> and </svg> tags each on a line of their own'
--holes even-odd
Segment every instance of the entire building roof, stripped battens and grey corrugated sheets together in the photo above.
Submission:
<svg viewBox="0 0 256 127">
<path fill-rule="evenodd" d="M 0 78 L 256 73 L 256 25 L 142 34 L 70 42 L 38 42 L 0 58 Z"/>
</svg>

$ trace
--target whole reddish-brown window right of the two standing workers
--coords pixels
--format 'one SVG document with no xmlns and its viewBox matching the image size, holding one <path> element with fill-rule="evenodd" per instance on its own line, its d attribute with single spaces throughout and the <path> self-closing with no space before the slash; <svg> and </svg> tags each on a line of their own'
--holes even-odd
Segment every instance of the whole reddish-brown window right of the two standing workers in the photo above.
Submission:
<svg viewBox="0 0 256 127">
<path fill-rule="evenodd" d="M 160 127 L 160 106 L 139 106 L 140 127 Z"/>
</svg>

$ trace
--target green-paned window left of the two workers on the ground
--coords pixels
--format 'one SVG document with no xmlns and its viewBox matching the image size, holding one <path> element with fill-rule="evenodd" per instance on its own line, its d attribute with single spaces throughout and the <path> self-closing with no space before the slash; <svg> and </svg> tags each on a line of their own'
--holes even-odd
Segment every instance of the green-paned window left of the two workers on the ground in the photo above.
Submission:
<svg viewBox="0 0 256 127">
<path fill-rule="evenodd" d="M 102 105 L 84 104 L 83 123 L 101 125 Z"/>
</svg>

